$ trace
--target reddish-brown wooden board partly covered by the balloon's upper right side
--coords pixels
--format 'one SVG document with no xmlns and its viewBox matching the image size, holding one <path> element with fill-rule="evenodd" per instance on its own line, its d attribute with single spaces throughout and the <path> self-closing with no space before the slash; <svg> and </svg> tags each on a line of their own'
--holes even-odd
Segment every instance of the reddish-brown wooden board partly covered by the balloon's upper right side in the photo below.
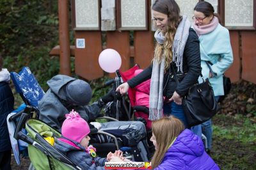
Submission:
<svg viewBox="0 0 256 170">
<path fill-rule="evenodd" d="M 125 71 L 130 68 L 130 42 L 129 31 L 107 31 L 106 33 L 106 48 L 116 50 L 121 58 L 122 65 L 120 70 Z M 114 73 L 110 77 L 115 76 Z"/>
</svg>

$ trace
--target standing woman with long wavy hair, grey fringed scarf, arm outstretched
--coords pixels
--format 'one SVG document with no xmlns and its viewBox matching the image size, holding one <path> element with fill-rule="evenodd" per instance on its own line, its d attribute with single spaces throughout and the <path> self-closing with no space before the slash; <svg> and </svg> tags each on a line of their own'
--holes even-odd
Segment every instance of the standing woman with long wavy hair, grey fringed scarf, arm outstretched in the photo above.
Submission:
<svg viewBox="0 0 256 170">
<path fill-rule="evenodd" d="M 182 97 L 197 82 L 201 72 L 198 36 L 191 29 L 188 18 L 180 15 L 180 8 L 174 0 L 156 0 L 152 5 L 152 14 L 157 26 L 152 64 L 118 86 L 116 91 L 123 95 L 129 87 L 134 88 L 151 77 L 149 119 L 158 120 L 164 112 L 176 116 L 188 127 Z M 173 70 L 177 73 L 179 84 L 175 82 Z"/>
</svg>

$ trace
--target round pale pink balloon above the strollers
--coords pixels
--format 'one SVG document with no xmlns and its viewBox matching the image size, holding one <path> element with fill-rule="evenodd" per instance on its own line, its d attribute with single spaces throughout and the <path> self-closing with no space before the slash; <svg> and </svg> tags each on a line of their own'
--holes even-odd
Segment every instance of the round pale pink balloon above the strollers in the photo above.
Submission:
<svg viewBox="0 0 256 170">
<path fill-rule="evenodd" d="M 105 72 L 115 73 L 120 68 L 122 59 L 116 50 L 105 49 L 100 52 L 99 64 Z"/>
</svg>

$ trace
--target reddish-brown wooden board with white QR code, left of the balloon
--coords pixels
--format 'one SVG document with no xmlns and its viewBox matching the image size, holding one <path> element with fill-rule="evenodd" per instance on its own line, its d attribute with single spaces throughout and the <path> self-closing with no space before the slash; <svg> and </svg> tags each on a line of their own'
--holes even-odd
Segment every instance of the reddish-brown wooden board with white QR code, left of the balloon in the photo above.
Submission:
<svg viewBox="0 0 256 170">
<path fill-rule="evenodd" d="M 102 51 L 100 31 L 76 31 L 76 38 L 85 39 L 84 49 L 75 49 L 76 74 L 91 81 L 103 76 L 99 65 L 99 54 Z"/>
</svg>

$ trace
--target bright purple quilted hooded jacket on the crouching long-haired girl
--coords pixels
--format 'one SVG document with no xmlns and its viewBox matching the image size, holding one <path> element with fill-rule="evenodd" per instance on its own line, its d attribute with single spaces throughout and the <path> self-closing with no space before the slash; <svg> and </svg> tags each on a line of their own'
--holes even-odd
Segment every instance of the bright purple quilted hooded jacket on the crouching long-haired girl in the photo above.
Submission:
<svg viewBox="0 0 256 170">
<path fill-rule="evenodd" d="M 166 151 L 160 169 L 220 169 L 204 150 L 204 143 L 185 129 Z"/>
</svg>

